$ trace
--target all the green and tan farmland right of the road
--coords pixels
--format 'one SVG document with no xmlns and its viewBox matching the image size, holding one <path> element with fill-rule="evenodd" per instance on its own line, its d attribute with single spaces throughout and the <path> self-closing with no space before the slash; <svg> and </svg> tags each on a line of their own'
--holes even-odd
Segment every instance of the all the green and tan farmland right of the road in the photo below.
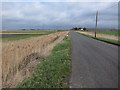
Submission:
<svg viewBox="0 0 120 90">
<path fill-rule="evenodd" d="M 85 35 L 87 37 L 91 37 L 100 41 L 108 42 L 115 45 L 120 45 L 120 32 L 119 31 L 77 31 L 79 34 Z"/>
</svg>

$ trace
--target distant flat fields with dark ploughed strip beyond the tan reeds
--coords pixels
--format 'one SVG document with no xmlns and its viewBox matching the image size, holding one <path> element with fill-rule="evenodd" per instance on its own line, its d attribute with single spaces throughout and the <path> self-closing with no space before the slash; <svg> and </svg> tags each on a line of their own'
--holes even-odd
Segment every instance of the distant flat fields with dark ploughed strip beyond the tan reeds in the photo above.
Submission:
<svg viewBox="0 0 120 90">
<path fill-rule="evenodd" d="M 8 42 L 13 40 L 27 39 L 30 37 L 39 37 L 42 35 L 48 35 L 51 33 L 62 32 L 62 31 L 2 31 L 0 39 L 2 42 Z"/>
</svg>

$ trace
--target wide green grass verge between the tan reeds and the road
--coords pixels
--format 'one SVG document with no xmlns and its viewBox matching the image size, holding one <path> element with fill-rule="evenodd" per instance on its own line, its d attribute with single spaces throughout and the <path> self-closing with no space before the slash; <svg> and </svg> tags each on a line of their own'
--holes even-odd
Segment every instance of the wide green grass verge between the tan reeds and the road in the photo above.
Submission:
<svg viewBox="0 0 120 90">
<path fill-rule="evenodd" d="M 70 76 L 70 37 L 56 45 L 49 57 L 39 62 L 36 73 L 18 88 L 67 88 Z"/>
</svg>

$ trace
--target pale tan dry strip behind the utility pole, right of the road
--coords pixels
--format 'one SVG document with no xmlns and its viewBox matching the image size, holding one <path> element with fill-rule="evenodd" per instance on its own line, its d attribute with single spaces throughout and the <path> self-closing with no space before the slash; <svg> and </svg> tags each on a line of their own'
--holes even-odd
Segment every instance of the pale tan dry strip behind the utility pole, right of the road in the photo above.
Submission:
<svg viewBox="0 0 120 90">
<path fill-rule="evenodd" d="M 95 36 L 94 32 L 85 32 L 85 31 L 77 31 L 83 34 L 87 34 L 87 35 L 91 35 L 91 36 Z M 114 35 L 107 35 L 107 34 L 97 34 L 97 37 L 99 38 L 106 38 L 106 39 L 112 39 L 112 40 L 119 40 L 118 36 L 114 36 Z"/>
</svg>

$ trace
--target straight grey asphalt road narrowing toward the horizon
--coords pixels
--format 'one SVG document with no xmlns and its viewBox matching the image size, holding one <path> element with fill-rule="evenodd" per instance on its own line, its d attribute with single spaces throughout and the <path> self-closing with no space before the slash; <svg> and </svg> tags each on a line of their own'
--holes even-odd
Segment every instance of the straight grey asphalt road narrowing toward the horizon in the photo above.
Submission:
<svg viewBox="0 0 120 90">
<path fill-rule="evenodd" d="M 70 88 L 118 88 L 118 46 L 71 32 Z"/>
</svg>

